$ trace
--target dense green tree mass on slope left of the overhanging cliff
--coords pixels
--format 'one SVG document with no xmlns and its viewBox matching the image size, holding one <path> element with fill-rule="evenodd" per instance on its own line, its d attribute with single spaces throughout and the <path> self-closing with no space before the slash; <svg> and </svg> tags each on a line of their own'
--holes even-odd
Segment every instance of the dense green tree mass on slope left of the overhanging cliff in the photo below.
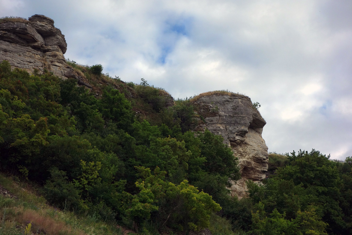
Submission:
<svg viewBox="0 0 352 235">
<path fill-rule="evenodd" d="M 226 185 L 239 178 L 236 159 L 221 137 L 181 128 L 180 105 L 162 110 L 151 100 L 168 117 L 153 126 L 111 86 L 97 99 L 74 79 L 11 70 L 6 61 L 0 88 L 1 170 L 42 184 L 53 205 L 136 231 L 186 232 L 209 227 L 223 206 L 214 199 L 225 208 L 232 200 Z M 158 96 L 139 89 L 144 99 Z"/>
</svg>

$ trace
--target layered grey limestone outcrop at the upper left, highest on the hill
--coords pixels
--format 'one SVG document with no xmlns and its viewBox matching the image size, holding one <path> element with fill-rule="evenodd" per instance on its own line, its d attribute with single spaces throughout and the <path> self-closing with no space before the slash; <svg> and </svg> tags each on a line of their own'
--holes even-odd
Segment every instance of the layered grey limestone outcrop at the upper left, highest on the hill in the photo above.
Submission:
<svg viewBox="0 0 352 235">
<path fill-rule="evenodd" d="M 78 84 L 91 87 L 68 66 L 63 56 L 67 49 L 64 35 L 54 26 L 54 20 L 34 15 L 28 20 L 10 18 L 0 23 L 0 61 L 33 73 L 44 69 L 61 78 L 75 78 Z"/>
</svg>

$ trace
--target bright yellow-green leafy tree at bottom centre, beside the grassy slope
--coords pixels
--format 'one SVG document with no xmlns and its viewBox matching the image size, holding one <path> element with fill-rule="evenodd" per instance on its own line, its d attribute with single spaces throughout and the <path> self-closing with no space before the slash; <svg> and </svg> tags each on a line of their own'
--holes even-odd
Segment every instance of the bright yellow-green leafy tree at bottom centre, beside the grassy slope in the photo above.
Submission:
<svg viewBox="0 0 352 235">
<path fill-rule="evenodd" d="M 168 226 L 185 233 L 189 230 L 199 231 L 209 227 L 212 212 L 221 210 L 219 204 L 215 203 L 209 194 L 199 192 L 197 188 L 188 184 L 187 180 L 180 184 L 172 184 L 165 181 L 166 172 L 161 171 L 159 167 L 155 169 L 154 174 L 151 174 L 149 168 L 137 169 L 142 177 L 137 185 L 143 186 L 142 189 L 146 186 L 148 188 L 146 198 L 150 206 L 148 205 L 146 208 L 148 210 L 145 211 L 148 213 L 147 217 L 149 218 L 149 213 L 152 212 L 149 209 L 158 210 L 150 214 L 158 230 Z M 140 216 L 143 217 L 142 213 Z"/>
</svg>

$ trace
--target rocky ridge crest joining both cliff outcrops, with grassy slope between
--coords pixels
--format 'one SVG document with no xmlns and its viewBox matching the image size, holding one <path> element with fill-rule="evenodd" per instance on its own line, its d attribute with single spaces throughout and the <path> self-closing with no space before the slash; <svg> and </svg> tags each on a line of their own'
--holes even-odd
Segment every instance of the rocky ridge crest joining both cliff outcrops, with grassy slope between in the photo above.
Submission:
<svg viewBox="0 0 352 235">
<path fill-rule="evenodd" d="M 8 60 L 12 68 L 25 69 L 29 73 L 49 71 L 64 80 L 75 79 L 79 86 L 88 88 L 98 99 L 103 89 L 111 86 L 131 102 L 140 121 L 146 119 L 152 125 L 174 126 L 179 120 L 183 132 L 208 129 L 221 135 L 239 160 L 241 179 L 229 184 L 233 196 L 241 198 L 246 195 L 246 180 L 260 182 L 265 178 L 268 148 L 261 134 L 266 122 L 249 97 L 228 91 L 206 92 L 183 102 L 181 106 L 190 102 L 186 104 L 188 114 L 176 105 L 172 109 L 178 110 L 177 113 L 170 116 L 165 109 L 174 106 L 174 100 L 162 88 L 149 86 L 144 79 L 140 85 L 113 79 L 102 74 L 101 64 L 83 66 L 65 60 L 63 55 L 67 44 L 64 35 L 54 26 L 54 20 L 43 15 L 34 15 L 28 20 L 2 18 L 0 29 L 3 30 L 0 32 L 0 60 Z"/>
</svg>

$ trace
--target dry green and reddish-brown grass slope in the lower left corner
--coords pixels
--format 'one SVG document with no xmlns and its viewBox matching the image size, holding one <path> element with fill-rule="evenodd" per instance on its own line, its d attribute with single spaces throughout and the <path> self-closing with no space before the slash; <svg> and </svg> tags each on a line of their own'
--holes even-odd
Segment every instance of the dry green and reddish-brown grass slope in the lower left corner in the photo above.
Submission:
<svg viewBox="0 0 352 235">
<path fill-rule="evenodd" d="M 77 216 L 48 205 L 29 184 L 0 174 L 0 185 L 18 198 L 0 195 L 0 235 L 23 235 L 29 223 L 29 234 L 122 235 L 117 224 L 107 224 L 92 216 Z"/>
</svg>

